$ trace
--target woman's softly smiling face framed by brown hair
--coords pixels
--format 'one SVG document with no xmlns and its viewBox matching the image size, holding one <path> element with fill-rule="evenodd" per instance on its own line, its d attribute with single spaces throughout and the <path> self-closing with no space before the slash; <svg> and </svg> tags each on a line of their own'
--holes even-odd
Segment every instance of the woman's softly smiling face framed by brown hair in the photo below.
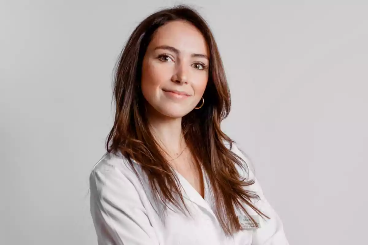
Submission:
<svg viewBox="0 0 368 245">
<path fill-rule="evenodd" d="M 208 66 L 208 46 L 195 26 L 185 21 L 161 26 L 142 64 L 141 87 L 148 106 L 171 118 L 188 114 L 202 103 Z"/>
</svg>

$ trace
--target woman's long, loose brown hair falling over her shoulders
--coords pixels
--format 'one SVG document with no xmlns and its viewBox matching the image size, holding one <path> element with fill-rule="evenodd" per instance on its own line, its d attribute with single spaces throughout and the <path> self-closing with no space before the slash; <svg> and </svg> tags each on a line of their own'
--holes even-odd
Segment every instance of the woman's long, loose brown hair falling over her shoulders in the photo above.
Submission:
<svg viewBox="0 0 368 245">
<path fill-rule="evenodd" d="M 258 215 L 268 216 L 251 203 L 252 198 L 259 199 L 259 196 L 244 187 L 252 185 L 254 180 L 245 181 L 240 176 L 236 165 L 245 170 L 246 164 L 231 151 L 234 141 L 220 129 L 220 123 L 230 112 L 230 91 L 222 60 L 208 24 L 193 8 L 180 5 L 155 12 L 145 18 L 129 37 L 116 66 L 113 84 L 116 112 L 106 141 L 107 151 L 121 152 L 132 166 L 132 160 L 139 163 L 155 197 L 184 210 L 177 176 L 149 130 L 141 91 L 142 60 L 152 35 L 160 26 L 174 20 L 185 20 L 197 27 L 210 50 L 209 78 L 203 96 L 205 104 L 183 117 L 185 142 L 208 176 L 215 193 L 215 214 L 224 232 L 233 234 L 241 230 L 236 208 L 243 209 L 258 227 L 243 204 Z M 225 142 L 229 143 L 230 149 Z"/>
</svg>

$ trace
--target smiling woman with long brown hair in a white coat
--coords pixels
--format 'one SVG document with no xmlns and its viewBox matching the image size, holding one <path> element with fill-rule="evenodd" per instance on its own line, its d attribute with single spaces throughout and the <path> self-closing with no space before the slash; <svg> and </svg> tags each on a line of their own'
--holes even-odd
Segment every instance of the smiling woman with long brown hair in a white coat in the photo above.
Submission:
<svg viewBox="0 0 368 245">
<path fill-rule="evenodd" d="M 99 245 L 288 244 L 248 159 L 220 129 L 229 88 L 195 10 L 161 10 L 137 26 L 114 99 L 107 153 L 90 176 Z"/>
</svg>

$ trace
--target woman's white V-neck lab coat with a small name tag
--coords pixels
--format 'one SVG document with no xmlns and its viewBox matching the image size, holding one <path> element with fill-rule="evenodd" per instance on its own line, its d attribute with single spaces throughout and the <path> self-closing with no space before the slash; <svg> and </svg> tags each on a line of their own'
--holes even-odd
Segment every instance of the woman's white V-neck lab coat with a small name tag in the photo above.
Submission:
<svg viewBox="0 0 368 245">
<path fill-rule="evenodd" d="M 249 163 L 235 144 L 231 150 Z M 99 245 L 289 245 L 282 221 L 265 199 L 250 167 L 246 176 L 256 182 L 246 188 L 257 192 L 260 200 L 254 202 L 255 206 L 270 219 L 256 218 L 260 228 L 247 228 L 226 236 L 213 211 L 213 194 L 206 176 L 203 199 L 177 173 L 184 201 L 191 212 L 185 216 L 174 208 L 163 210 L 162 203 L 155 201 L 147 178 L 137 166 L 142 182 L 122 155 L 105 154 L 93 167 L 90 175 L 91 215 Z M 246 208 L 256 217 L 254 210 Z M 237 213 L 240 218 L 245 217 L 241 212 Z"/>
</svg>

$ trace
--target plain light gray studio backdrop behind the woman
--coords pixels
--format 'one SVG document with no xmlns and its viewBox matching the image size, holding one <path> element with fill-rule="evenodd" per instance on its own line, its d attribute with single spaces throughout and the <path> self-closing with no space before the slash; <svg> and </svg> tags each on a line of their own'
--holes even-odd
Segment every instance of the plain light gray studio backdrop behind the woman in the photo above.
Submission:
<svg viewBox="0 0 368 245">
<path fill-rule="evenodd" d="M 1 1 L 0 244 L 97 244 L 88 175 L 113 66 L 139 21 L 177 3 L 214 32 L 233 102 L 223 130 L 290 244 L 365 244 L 368 7 L 255 2 Z"/>
</svg>

